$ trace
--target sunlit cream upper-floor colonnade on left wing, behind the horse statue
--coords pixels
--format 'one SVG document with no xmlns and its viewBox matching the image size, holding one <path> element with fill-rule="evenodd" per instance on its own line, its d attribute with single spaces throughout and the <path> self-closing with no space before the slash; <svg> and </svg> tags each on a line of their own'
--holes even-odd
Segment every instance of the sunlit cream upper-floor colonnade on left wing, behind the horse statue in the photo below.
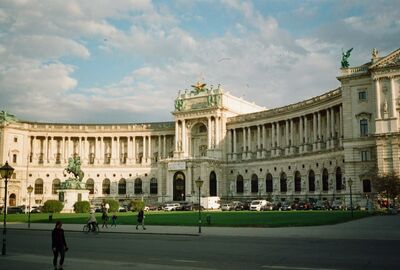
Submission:
<svg viewBox="0 0 400 270">
<path fill-rule="evenodd" d="M 83 165 L 150 164 L 170 156 L 173 135 L 30 136 L 30 162 L 65 164 L 73 155 Z"/>
</svg>

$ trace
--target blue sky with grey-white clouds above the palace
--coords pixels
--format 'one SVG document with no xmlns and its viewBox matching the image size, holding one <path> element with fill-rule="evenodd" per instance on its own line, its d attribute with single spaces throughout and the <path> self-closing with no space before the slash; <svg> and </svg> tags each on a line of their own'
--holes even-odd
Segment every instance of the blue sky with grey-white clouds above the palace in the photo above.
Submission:
<svg viewBox="0 0 400 270">
<path fill-rule="evenodd" d="M 40 122 L 172 120 L 198 80 L 274 108 L 400 47 L 399 1 L 0 0 L 0 111 Z"/>
</svg>

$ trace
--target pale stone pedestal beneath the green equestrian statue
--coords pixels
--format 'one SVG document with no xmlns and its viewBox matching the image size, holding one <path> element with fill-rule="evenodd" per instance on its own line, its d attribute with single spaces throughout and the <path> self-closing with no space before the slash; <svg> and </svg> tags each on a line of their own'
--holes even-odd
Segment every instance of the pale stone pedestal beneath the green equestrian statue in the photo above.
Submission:
<svg viewBox="0 0 400 270">
<path fill-rule="evenodd" d="M 58 190 L 58 199 L 64 204 L 61 213 L 74 213 L 74 204 L 80 201 L 89 201 L 89 190 L 85 184 L 77 179 L 67 179 L 61 183 Z"/>
</svg>

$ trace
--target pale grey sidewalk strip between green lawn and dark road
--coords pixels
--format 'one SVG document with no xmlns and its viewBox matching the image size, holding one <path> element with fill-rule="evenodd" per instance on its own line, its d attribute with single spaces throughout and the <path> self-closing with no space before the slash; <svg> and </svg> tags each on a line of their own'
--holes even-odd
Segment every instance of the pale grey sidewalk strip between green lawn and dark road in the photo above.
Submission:
<svg viewBox="0 0 400 270">
<path fill-rule="evenodd" d="M 2 228 L 2 224 L 0 228 Z M 82 224 L 63 224 L 65 231 L 82 231 Z M 28 230 L 27 223 L 8 223 L 8 229 Z M 52 230 L 54 224 L 31 223 L 30 230 Z M 102 229 L 100 233 L 160 234 L 187 236 L 242 236 L 242 237 L 276 237 L 276 238 L 319 238 L 319 239 L 375 239 L 400 240 L 400 215 L 373 216 L 351 222 L 309 227 L 286 228 L 234 228 L 202 227 L 198 233 L 196 226 L 146 226 L 143 231 L 135 225 L 118 225 Z"/>
</svg>

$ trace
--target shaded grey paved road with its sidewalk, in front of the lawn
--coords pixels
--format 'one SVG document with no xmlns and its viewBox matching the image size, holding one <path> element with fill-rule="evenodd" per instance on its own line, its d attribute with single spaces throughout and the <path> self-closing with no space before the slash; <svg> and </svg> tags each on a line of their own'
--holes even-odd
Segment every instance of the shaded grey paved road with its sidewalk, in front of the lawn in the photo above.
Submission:
<svg viewBox="0 0 400 270">
<path fill-rule="evenodd" d="M 114 233 L 86 235 L 71 229 L 64 269 L 399 269 L 399 224 L 400 216 L 373 217 L 314 229 L 284 228 L 285 235 L 233 228 L 178 234 L 195 229 L 190 227 L 175 227 L 175 232 L 149 227 L 145 233 L 119 227 L 108 230 Z M 10 229 L 7 236 L 0 269 L 52 269 L 48 230 Z"/>
</svg>

